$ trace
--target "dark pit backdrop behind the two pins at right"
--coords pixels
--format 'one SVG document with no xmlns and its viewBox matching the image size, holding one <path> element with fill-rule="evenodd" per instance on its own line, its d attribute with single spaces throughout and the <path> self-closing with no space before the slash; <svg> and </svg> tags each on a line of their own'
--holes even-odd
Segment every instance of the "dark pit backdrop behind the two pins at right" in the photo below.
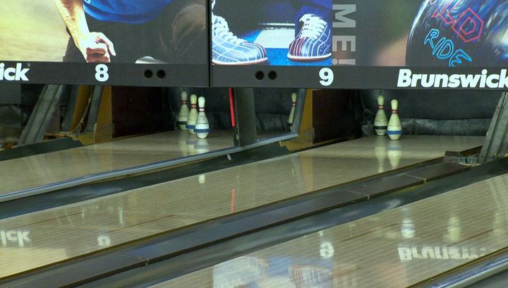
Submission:
<svg viewBox="0 0 508 288">
<path fill-rule="evenodd" d="M 399 117 L 405 134 L 485 136 L 495 112 L 500 91 L 474 90 L 360 90 L 364 112 L 363 134 L 373 135 L 377 97 L 385 97 L 385 113 L 392 114 L 390 101 L 399 100 Z"/>
</svg>

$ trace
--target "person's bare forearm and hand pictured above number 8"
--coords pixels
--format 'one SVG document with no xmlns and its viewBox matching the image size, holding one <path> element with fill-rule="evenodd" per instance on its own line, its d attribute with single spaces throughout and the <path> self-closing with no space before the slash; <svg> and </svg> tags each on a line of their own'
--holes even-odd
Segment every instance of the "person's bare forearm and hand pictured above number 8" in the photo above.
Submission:
<svg viewBox="0 0 508 288">
<path fill-rule="evenodd" d="M 90 32 L 83 0 L 54 0 L 74 43 L 87 62 L 109 63 L 116 56 L 113 43 L 102 32 Z"/>
</svg>

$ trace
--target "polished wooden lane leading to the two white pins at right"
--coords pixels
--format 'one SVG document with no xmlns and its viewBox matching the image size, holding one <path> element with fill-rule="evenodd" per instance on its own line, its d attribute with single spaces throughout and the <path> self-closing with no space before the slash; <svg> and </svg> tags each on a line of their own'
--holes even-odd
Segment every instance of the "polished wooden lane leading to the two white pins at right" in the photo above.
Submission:
<svg viewBox="0 0 508 288">
<path fill-rule="evenodd" d="M 361 138 L 0 220 L 0 278 L 481 143 L 405 136 L 393 148 L 384 137 Z"/>
</svg>

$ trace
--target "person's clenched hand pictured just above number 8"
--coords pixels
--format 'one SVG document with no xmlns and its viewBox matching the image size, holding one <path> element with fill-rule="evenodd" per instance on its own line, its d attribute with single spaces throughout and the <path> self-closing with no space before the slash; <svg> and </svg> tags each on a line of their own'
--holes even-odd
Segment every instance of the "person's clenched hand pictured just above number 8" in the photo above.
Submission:
<svg viewBox="0 0 508 288">
<path fill-rule="evenodd" d="M 88 63 L 110 63 L 111 56 L 116 56 L 114 45 L 101 32 L 90 32 L 76 42 Z"/>
</svg>

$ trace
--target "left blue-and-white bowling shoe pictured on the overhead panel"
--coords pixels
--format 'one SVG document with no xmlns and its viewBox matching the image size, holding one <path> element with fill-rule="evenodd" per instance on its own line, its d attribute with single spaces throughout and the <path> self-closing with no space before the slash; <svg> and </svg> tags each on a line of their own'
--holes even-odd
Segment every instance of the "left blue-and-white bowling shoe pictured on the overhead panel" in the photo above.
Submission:
<svg viewBox="0 0 508 288">
<path fill-rule="evenodd" d="M 258 64 L 268 59 L 265 48 L 236 37 L 226 20 L 212 15 L 212 63 L 221 65 Z"/>
</svg>

